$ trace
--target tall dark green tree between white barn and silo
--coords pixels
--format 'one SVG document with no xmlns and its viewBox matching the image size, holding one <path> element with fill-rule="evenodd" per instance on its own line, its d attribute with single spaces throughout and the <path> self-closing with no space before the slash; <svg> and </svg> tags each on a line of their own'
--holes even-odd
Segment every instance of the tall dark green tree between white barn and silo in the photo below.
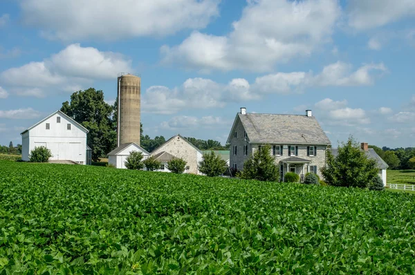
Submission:
<svg viewBox="0 0 415 275">
<path fill-rule="evenodd" d="M 71 102 L 62 103 L 61 111 L 89 130 L 87 144 L 92 160 L 107 155 L 116 148 L 117 132 L 113 106 L 104 102 L 104 93 L 89 88 L 71 95 Z"/>
</svg>

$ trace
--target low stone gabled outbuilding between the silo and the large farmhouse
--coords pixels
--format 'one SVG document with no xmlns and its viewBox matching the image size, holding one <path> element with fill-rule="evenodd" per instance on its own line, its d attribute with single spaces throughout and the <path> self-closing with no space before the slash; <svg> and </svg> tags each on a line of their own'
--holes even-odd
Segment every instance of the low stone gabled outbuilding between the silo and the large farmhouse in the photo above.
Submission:
<svg viewBox="0 0 415 275">
<path fill-rule="evenodd" d="M 174 158 L 183 158 L 183 160 L 187 162 L 187 169 L 185 173 L 201 175 L 201 172 L 199 171 L 199 162 L 202 160 L 202 152 L 181 135 L 174 135 L 163 145 L 151 152 L 151 155 L 155 158 L 160 158 L 163 155 L 163 162 L 165 164 L 167 163 L 167 159 L 171 157 L 167 154 L 160 154 L 162 152 L 168 153 Z"/>
</svg>

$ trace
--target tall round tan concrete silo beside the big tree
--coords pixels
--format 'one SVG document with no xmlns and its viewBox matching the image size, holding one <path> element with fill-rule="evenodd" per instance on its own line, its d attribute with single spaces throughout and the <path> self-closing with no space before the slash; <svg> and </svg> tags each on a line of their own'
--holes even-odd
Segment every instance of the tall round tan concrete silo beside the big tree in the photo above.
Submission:
<svg viewBox="0 0 415 275">
<path fill-rule="evenodd" d="M 135 142 L 140 145 L 141 78 L 118 75 L 117 146 Z"/>
</svg>

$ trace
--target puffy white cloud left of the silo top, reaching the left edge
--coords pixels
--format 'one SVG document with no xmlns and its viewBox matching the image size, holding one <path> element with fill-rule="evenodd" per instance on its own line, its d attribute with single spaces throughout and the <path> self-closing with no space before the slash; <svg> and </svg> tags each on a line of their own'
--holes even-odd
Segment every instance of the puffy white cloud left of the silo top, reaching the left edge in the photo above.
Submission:
<svg viewBox="0 0 415 275">
<path fill-rule="evenodd" d="M 43 97 L 49 91 L 77 91 L 125 71 L 132 71 L 131 61 L 122 55 L 72 44 L 44 61 L 5 70 L 0 79 L 17 95 Z"/>
</svg>

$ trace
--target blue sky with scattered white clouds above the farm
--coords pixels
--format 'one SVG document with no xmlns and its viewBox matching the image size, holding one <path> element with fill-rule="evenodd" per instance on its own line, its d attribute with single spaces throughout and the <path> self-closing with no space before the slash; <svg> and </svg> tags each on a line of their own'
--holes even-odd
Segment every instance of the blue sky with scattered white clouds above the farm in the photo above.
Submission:
<svg viewBox="0 0 415 275">
<path fill-rule="evenodd" d="M 304 114 L 333 145 L 415 146 L 413 0 L 1 0 L 0 144 L 75 91 L 141 77 L 144 133 L 228 138 Z"/>
</svg>

